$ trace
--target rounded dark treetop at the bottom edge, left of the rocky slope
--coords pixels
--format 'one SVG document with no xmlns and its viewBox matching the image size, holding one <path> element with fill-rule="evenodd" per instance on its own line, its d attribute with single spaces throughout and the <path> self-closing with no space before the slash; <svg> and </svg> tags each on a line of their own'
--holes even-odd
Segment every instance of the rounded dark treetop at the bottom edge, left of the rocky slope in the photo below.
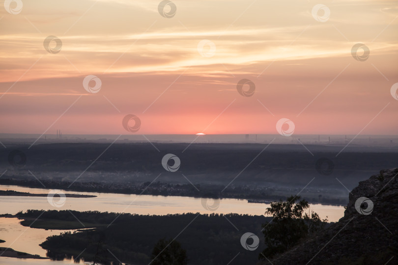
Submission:
<svg viewBox="0 0 398 265">
<path fill-rule="evenodd" d="M 187 251 L 175 240 L 160 239 L 152 250 L 151 265 L 187 265 Z"/>
</svg>

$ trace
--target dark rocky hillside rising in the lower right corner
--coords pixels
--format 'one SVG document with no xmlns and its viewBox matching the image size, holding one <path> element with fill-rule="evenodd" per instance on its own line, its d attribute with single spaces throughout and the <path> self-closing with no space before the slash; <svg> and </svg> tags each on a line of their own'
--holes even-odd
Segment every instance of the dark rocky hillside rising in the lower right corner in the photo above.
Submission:
<svg viewBox="0 0 398 265">
<path fill-rule="evenodd" d="M 381 170 L 380 174 L 360 182 L 350 192 L 347 209 L 339 222 L 271 262 L 273 265 L 397 265 L 398 168 Z"/>
</svg>

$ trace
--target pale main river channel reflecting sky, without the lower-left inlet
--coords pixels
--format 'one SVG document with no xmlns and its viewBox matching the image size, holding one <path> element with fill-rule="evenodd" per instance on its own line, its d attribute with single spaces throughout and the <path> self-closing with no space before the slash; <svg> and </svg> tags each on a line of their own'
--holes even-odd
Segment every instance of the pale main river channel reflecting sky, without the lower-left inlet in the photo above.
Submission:
<svg viewBox="0 0 398 265">
<path fill-rule="evenodd" d="M 50 189 L 28 188 L 20 186 L 1 185 L 0 189 L 12 189 L 30 193 L 48 193 Z M 205 210 L 200 198 L 179 196 L 152 196 L 135 194 L 94 193 L 65 191 L 65 193 L 79 193 L 96 195 L 95 198 L 66 198 L 62 208 L 51 206 L 47 197 L 18 197 L 0 196 L 0 214 L 38 210 L 75 210 L 75 211 L 100 211 L 100 212 L 129 212 L 138 214 L 174 214 L 184 212 L 211 213 Z M 209 204 L 212 204 L 209 201 Z M 262 215 L 269 204 L 248 203 L 247 200 L 222 199 L 216 213 L 239 213 Z M 341 206 L 311 205 L 314 212 L 318 212 L 321 218 L 328 216 L 329 221 L 338 221 L 344 212 Z"/>
</svg>

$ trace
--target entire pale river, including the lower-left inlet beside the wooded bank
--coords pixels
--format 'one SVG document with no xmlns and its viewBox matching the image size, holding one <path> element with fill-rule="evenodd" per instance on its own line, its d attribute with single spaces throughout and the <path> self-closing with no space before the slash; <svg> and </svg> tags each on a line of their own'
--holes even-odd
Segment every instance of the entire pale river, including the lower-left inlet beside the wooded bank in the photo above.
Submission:
<svg viewBox="0 0 398 265">
<path fill-rule="evenodd" d="M 28 188 L 14 185 L 0 185 L 0 190 L 15 190 L 30 193 L 49 193 L 50 189 Z M 36 210 L 75 210 L 75 211 L 100 211 L 100 212 L 129 212 L 138 214 L 168 214 L 184 212 L 211 213 L 202 206 L 200 198 L 179 196 L 152 196 L 116 193 L 95 193 L 63 191 L 64 193 L 76 193 L 95 195 L 95 198 L 66 198 L 65 204 L 60 207 L 52 206 L 47 197 L 24 196 L 0 196 L 0 214 L 15 214 L 28 209 Z M 57 200 L 57 199 L 55 199 Z M 208 205 L 213 205 L 209 199 Z M 262 215 L 269 204 L 248 203 L 247 200 L 222 199 L 215 213 L 241 213 Z M 311 204 L 310 209 L 317 212 L 321 218 L 328 216 L 329 221 L 338 221 L 344 213 L 342 206 L 330 206 Z M 58 235 L 60 230 L 43 230 L 23 227 L 15 218 L 0 218 L 0 239 L 6 240 L 0 243 L 0 247 L 11 247 L 17 251 L 37 254 L 45 257 L 46 251 L 39 244 L 48 236 Z M 27 264 L 76 264 L 73 260 L 61 262 L 49 260 L 24 260 L 16 258 L 0 257 L 1 265 L 27 265 Z M 81 262 L 81 264 L 84 264 Z"/>
</svg>

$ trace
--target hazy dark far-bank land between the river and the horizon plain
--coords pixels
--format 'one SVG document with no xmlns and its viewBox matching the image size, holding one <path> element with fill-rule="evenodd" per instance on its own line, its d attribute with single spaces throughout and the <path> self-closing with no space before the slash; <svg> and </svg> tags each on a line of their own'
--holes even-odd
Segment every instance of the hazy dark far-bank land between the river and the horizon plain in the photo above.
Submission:
<svg viewBox="0 0 398 265">
<path fill-rule="evenodd" d="M 158 186 L 152 184 L 145 194 L 274 200 L 311 182 L 301 194 L 308 201 L 345 204 L 345 187 L 352 189 L 364 176 L 394 167 L 398 160 L 397 147 L 349 145 L 339 154 L 344 146 L 306 144 L 310 154 L 301 144 L 194 143 L 184 152 L 185 143 L 154 145 L 160 152 L 150 143 L 50 143 L 30 149 L 10 144 L 0 150 L 0 166 L 7 169 L 0 183 L 32 181 L 40 187 L 30 170 L 45 185 L 60 189 L 77 180 L 71 190 L 139 194 L 156 179 Z M 20 150 L 26 159 L 13 157 L 10 150 Z M 176 172 L 162 166 L 169 153 L 181 160 Z M 319 164 L 325 158 L 333 165 L 329 170 L 327 163 Z"/>
</svg>

